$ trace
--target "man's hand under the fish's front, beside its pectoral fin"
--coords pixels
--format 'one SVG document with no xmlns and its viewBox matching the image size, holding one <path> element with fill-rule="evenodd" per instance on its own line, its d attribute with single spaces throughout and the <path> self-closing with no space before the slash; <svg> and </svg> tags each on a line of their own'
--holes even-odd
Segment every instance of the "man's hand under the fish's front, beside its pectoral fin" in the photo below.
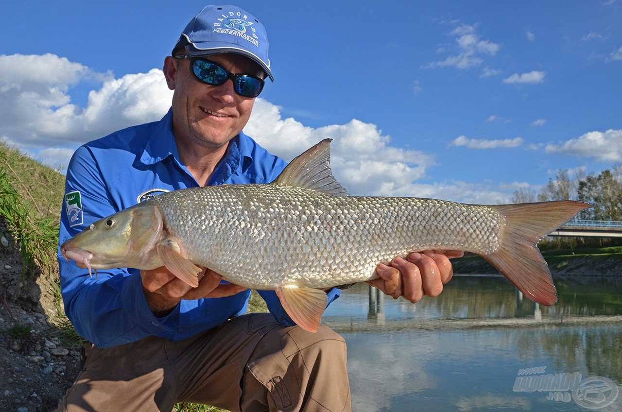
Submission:
<svg viewBox="0 0 622 412">
<path fill-rule="evenodd" d="M 231 296 L 246 290 L 243 286 L 233 283 L 221 284 L 223 277 L 205 268 L 198 274 L 197 288 L 192 288 L 164 266 L 152 270 L 141 270 L 141 277 L 147 304 L 156 316 L 169 313 L 182 299 Z"/>
</svg>

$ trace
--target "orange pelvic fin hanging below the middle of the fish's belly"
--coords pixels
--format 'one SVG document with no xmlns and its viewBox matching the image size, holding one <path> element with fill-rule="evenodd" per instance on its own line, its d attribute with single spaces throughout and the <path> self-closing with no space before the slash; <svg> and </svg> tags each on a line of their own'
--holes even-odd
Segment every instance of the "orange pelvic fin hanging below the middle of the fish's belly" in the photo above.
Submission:
<svg viewBox="0 0 622 412">
<path fill-rule="evenodd" d="M 304 330 L 317 332 L 322 314 L 328 304 L 328 298 L 324 291 L 299 288 L 298 286 L 283 286 L 276 289 L 276 294 L 292 321 Z"/>
</svg>

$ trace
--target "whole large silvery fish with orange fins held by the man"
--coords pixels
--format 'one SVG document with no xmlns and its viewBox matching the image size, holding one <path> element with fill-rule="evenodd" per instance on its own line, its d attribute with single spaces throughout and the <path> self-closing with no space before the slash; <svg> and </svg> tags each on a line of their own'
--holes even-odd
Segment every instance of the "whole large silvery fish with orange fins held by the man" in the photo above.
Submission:
<svg viewBox="0 0 622 412">
<path fill-rule="evenodd" d="M 276 290 L 289 316 L 312 332 L 327 305 L 318 288 L 378 278 L 379 263 L 411 251 L 477 253 L 529 299 L 547 306 L 557 301 L 536 244 L 588 204 L 348 196 L 329 157 L 325 139 L 271 184 L 153 197 L 93 223 L 60 250 L 89 271 L 166 266 L 190 286 L 198 285 L 198 266 L 204 266 L 231 283 Z"/>
</svg>

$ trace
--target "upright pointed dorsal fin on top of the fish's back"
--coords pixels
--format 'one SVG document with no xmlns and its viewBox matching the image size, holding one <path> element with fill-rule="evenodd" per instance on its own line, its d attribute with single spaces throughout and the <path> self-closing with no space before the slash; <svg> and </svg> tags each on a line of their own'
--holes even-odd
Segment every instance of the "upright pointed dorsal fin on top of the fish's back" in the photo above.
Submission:
<svg viewBox="0 0 622 412">
<path fill-rule="evenodd" d="M 335 180 L 333 172 L 330 170 L 330 142 L 332 140 L 323 139 L 320 143 L 297 156 L 285 167 L 285 170 L 274 182 L 318 190 L 329 195 L 348 195 L 348 192 Z"/>
</svg>

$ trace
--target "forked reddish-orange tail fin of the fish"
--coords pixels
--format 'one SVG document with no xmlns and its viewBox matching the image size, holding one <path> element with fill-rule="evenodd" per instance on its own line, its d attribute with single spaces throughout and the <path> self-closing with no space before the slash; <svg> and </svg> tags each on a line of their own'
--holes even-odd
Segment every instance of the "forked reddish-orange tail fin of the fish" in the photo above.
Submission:
<svg viewBox="0 0 622 412">
<path fill-rule="evenodd" d="M 575 200 L 491 206 L 505 217 L 505 225 L 499 250 L 483 258 L 529 299 L 551 306 L 557 302 L 557 293 L 549 266 L 536 244 L 588 207 Z"/>
</svg>

